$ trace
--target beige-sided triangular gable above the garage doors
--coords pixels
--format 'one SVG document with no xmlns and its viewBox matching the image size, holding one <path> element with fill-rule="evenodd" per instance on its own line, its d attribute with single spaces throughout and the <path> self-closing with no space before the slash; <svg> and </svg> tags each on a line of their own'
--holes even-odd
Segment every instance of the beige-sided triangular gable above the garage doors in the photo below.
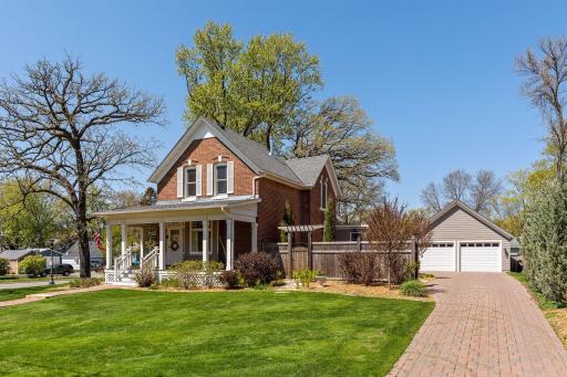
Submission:
<svg viewBox="0 0 567 377">
<path fill-rule="evenodd" d="M 433 218 L 433 240 L 512 240 L 514 235 L 478 214 L 461 201 L 453 201 Z"/>
</svg>

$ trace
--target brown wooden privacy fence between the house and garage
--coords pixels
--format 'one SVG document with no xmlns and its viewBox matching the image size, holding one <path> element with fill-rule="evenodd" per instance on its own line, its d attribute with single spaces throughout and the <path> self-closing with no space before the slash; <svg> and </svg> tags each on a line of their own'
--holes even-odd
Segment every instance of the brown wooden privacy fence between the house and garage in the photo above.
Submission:
<svg viewBox="0 0 567 377">
<path fill-rule="evenodd" d="M 291 275 L 291 271 L 310 268 L 320 271 L 327 277 L 343 277 L 339 269 L 339 255 L 357 251 L 382 254 L 372 248 L 369 242 L 311 242 L 311 251 L 309 244 L 293 244 L 291 248 L 288 243 L 266 244 L 265 252 L 269 253 L 284 269 L 286 276 Z M 291 270 L 290 270 L 290 251 L 291 249 Z M 408 250 L 402 252 L 405 262 L 413 261 L 412 243 L 408 243 Z"/>
</svg>

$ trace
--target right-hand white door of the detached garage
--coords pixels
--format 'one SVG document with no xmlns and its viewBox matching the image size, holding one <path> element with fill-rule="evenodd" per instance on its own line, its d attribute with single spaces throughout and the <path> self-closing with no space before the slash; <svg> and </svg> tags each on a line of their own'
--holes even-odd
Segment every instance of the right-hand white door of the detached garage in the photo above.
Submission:
<svg viewBox="0 0 567 377">
<path fill-rule="evenodd" d="M 461 271 L 501 272 L 502 251 L 499 243 L 461 243 Z"/>
</svg>

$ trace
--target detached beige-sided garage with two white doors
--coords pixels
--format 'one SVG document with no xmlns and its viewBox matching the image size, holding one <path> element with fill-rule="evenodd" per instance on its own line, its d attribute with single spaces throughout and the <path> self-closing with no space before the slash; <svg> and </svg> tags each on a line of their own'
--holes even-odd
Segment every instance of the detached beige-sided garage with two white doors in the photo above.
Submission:
<svg viewBox="0 0 567 377">
<path fill-rule="evenodd" d="M 432 244 L 421 255 L 421 271 L 509 271 L 514 235 L 453 201 L 431 218 Z"/>
</svg>

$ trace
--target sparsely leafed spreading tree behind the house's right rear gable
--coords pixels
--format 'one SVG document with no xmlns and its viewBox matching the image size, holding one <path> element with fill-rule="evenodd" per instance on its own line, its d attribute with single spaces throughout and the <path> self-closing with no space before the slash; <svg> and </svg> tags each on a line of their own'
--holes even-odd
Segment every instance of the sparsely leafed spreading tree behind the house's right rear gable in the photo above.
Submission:
<svg viewBox="0 0 567 377">
<path fill-rule="evenodd" d="M 371 124 L 357 98 L 330 97 L 298 112 L 287 132 L 289 156 L 331 157 L 343 193 L 339 216 L 347 223 L 381 198 L 384 179 L 400 178 L 392 143 Z"/>
</svg>

